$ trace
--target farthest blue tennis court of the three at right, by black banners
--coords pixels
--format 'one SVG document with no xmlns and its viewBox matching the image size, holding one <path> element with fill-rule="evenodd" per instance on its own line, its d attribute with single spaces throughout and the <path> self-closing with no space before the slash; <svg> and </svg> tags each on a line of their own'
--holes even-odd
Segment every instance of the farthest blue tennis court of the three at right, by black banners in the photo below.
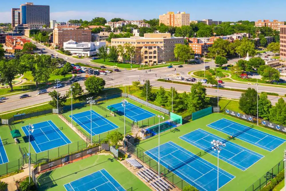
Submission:
<svg viewBox="0 0 286 191">
<path fill-rule="evenodd" d="M 237 139 L 241 139 L 270 152 L 286 141 L 285 139 L 264 133 L 257 129 L 249 128 L 225 118 L 215 121 L 207 126 L 228 135 L 238 134 L 236 137 Z"/>
</svg>

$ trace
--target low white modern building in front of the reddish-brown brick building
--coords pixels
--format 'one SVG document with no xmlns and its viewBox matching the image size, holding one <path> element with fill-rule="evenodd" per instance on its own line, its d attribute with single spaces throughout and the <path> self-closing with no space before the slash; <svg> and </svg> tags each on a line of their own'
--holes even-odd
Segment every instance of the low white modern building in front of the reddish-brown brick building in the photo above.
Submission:
<svg viewBox="0 0 286 191">
<path fill-rule="evenodd" d="M 105 46 L 106 42 L 80 42 L 69 40 L 63 43 L 63 49 L 70 51 L 76 56 L 94 56 L 98 53 L 98 49 Z"/>
</svg>

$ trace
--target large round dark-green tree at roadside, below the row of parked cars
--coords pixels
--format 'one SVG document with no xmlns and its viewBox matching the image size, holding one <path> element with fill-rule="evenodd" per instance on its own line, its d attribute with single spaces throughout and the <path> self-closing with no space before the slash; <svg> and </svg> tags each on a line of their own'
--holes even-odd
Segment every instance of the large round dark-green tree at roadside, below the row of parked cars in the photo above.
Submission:
<svg viewBox="0 0 286 191">
<path fill-rule="evenodd" d="M 95 76 L 92 76 L 84 82 L 84 85 L 86 86 L 86 90 L 90 94 L 98 95 L 105 86 L 105 81 L 102 78 L 97 78 Z"/>
</svg>

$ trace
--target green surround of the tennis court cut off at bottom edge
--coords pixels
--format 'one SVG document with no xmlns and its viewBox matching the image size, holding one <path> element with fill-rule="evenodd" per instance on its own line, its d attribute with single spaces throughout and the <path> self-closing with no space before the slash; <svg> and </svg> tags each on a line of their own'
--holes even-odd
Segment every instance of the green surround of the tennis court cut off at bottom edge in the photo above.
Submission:
<svg viewBox="0 0 286 191">
<path fill-rule="evenodd" d="M 65 190 L 64 184 L 105 169 L 124 189 L 151 190 L 110 154 L 98 154 L 41 174 L 37 180 L 38 190 Z M 106 190 L 107 191 L 107 190 Z"/>
</svg>

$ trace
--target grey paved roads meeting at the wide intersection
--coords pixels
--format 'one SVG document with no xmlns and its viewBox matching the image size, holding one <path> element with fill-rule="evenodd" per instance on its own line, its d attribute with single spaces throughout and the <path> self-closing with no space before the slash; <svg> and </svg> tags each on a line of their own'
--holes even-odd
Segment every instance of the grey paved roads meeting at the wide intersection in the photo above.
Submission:
<svg viewBox="0 0 286 191">
<path fill-rule="evenodd" d="M 25 37 L 24 37 L 25 38 Z M 40 44 L 36 44 L 36 46 L 38 48 L 46 48 L 43 45 Z M 57 52 L 55 50 L 50 50 L 47 49 L 44 50 L 42 52 L 42 54 L 57 54 Z M 58 54 L 56 55 L 59 58 L 63 58 L 65 59 L 65 55 L 62 54 Z M 92 65 L 92 66 L 100 66 L 97 64 L 93 64 L 89 62 L 89 58 L 84 58 L 84 59 L 77 59 L 77 58 L 71 58 L 69 57 L 68 59 L 65 59 L 70 63 L 77 63 L 77 62 L 81 62 L 81 63 L 85 63 L 88 65 Z M 229 64 L 232 64 L 233 62 L 237 62 L 239 60 L 239 58 L 235 58 L 229 61 Z M 207 62 L 205 63 L 205 66 L 210 66 L 210 67 L 214 67 L 215 63 L 212 62 Z M 200 63 L 200 64 L 188 64 L 188 65 L 184 65 L 184 67 L 182 68 L 176 68 L 176 73 L 179 73 L 181 76 L 183 76 L 184 78 L 188 78 L 190 77 L 188 75 L 189 71 L 193 71 L 193 70 L 202 70 L 204 68 L 204 64 Z M 112 69 L 112 67 L 108 67 L 108 69 Z M 81 84 L 81 86 L 83 87 L 84 91 L 85 90 L 85 86 L 84 86 L 84 80 L 86 74 L 78 74 L 78 77 L 80 77 L 81 81 L 79 81 L 79 83 Z M 147 78 L 150 80 L 151 85 L 154 87 L 160 87 L 163 86 L 164 88 L 169 89 L 172 84 L 168 83 L 168 82 L 159 82 L 156 81 L 156 79 L 158 78 L 173 78 L 175 76 L 175 70 L 174 68 L 155 68 L 152 69 L 151 71 L 148 70 L 146 73 L 146 70 L 121 70 L 120 72 L 116 72 L 116 73 L 111 73 L 108 74 L 106 76 L 100 76 L 102 78 L 104 78 L 104 80 L 106 81 L 106 86 L 105 87 L 113 87 L 113 85 L 132 85 L 132 81 L 135 80 L 140 80 L 141 84 L 143 84 L 143 79 L 146 80 Z M 196 82 L 189 82 L 189 83 L 196 83 Z M 70 82 L 63 82 L 62 83 L 64 86 L 62 88 L 59 88 L 58 91 L 59 93 L 61 93 L 62 95 L 65 94 L 65 92 L 69 89 L 69 86 L 71 85 Z M 210 86 L 210 84 L 203 84 L 205 86 Z M 188 85 L 182 85 L 182 84 L 173 84 L 173 86 L 179 91 L 179 92 L 189 92 L 190 91 L 190 86 Z M 226 88 L 234 88 L 234 89 L 247 89 L 248 87 L 252 87 L 252 88 L 256 88 L 256 85 L 252 84 L 242 84 L 242 83 L 236 83 L 236 82 L 225 82 L 222 84 L 222 86 L 226 87 Z M 53 89 L 51 87 L 47 88 L 48 91 L 53 91 Z M 279 95 L 285 95 L 286 94 L 286 88 L 283 87 L 275 87 L 275 86 L 263 86 L 263 85 L 259 85 L 259 92 L 276 92 Z M 32 91 L 32 92 L 28 92 L 28 94 L 30 95 L 29 98 L 26 99 L 19 99 L 19 94 L 16 95 L 11 95 L 11 96 L 7 96 L 7 100 L 5 100 L 4 103 L 1 103 L 1 107 L 0 107 L 0 112 L 5 112 L 8 110 L 13 110 L 13 109 L 18 109 L 18 108 L 22 108 L 22 107 L 29 107 L 31 105 L 35 105 L 35 104 L 40 104 L 40 103 L 44 103 L 47 101 L 50 101 L 51 98 L 48 94 L 42 94 L 42 95 L 36 95 L 38 92 L 38 90 L 36 91 Z M 213 88 L 207 88 L 207 94 L 208 95 L 213 95 L 213 96 L 217 96 L 217 90 L 213 89 Z M 231 99 L 239 99 L 241 95 L 241 92 L 236 92 L 236 91 L 229 91 L 229 90 L 219 90 L 219 96 L 220 97 L 225 97 L 225 98 L 231 98 Z M 277 100 L 279 99 L 279 97 L 275 97 L 275 96 L 268 96 L 269 99 L 271 100 L 272 104 L 275 104 L 275 102 L 277 102 Z"/>
</svg>

